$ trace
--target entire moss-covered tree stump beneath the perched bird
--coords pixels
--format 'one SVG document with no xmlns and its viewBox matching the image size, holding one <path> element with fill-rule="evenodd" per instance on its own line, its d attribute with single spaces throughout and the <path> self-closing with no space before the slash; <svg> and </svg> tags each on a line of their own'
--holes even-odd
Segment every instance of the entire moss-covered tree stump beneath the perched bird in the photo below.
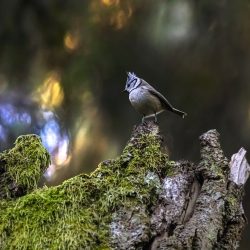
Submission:
<svg viewBox="0 0 250 250">
<path fill-rule="evenodd" d="M 25 137 L 24 158 L 17 150 L 23 139 L 0 155 L 1 193 L 7 190 L 0 202 L 0 249 L 237 248 L 246 178 L 239 184 L 235 171 L 230 175 L 215 130 L 201 136 L 201 161 L 193 164 L 170 161 L 158 126 L 140 125 L 117 159 L 41 189 L 37 175 L 26 174 L 41 173 L 49 161 L 34 138 Z M 10 195 L 8 183 L 20 183 L 22 196 Z"/>
</svg>

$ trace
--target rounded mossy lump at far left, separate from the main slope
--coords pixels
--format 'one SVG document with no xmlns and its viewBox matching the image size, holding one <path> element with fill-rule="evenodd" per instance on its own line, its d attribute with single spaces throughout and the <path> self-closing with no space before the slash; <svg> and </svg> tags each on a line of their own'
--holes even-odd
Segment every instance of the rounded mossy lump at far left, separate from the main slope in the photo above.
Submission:
<svg viewBox="0 0 250 250">
<path fill-rule="evenodd" d="M 17 138 L 14 148 L 0 154 L 0 160 L 4 172 L 0 186 L 5 190 L 1 196 L 8 198 L 15 197 L 20 190 L 28 193 L 36 189 L 50 156 L 39 136 L 23 135 Z"/>
</svg>

